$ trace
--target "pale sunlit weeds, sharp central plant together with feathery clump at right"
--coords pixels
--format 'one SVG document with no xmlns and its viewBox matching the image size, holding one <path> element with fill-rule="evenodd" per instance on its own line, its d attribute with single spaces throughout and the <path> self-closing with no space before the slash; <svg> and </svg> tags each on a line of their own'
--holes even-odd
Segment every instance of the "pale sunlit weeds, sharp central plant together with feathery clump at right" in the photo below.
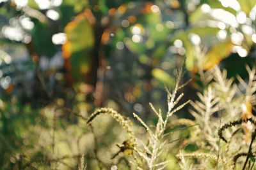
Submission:
<svg viewBox="0 0 256 170">
<path fill-rule="evenodd" d="M 136 169 L 164 169 L 173 160 L 163 159 L 164 154 L 175 148 L 170 148 L 168 129 L 179 125 L 189 128 L 189 138 L 177 139 L 179 153 L 176 158 L 180 169 L 253 169 L 255 162 L 255 125 L 252 114 L 255 105 L 256 74 L 255 68 L 248 71 L 248 80 L 244 81 L 237 76 L 239 83 L 234 83 L 234 78 L 227 78 L 227 71 L 220 71 L 214 67 L 209 71 L 200 73 L 204 83 L 202 93 L 198 92 L 198 101 L 185 101 L 179 104 L 183 93 L 179 90 L 187 83 L 180 85 L 182 69 L 177 73 L 177 82 L 172 92 L 166 88 L 168 94 L 168 111 L 163 114 L 150 103 L 152 111 L 157 116 L 154 127 L 147 125 L 141 118 L 133 113 L 134 118 L 143 125 L 147 131 L 147 140 L 136 138 L 131 121 L 111 108 L 96 110 L 87 120 L 90 124 L 95 117 L 105 113 L 113 117 L 127 131 L 128 139 L 118 145 L 120 151 L 115 157 L 130 155 L 133 160 L 129 162 Z M 204 74 L 204 75 L 202 75 Z M 172 120 L 174 113 L 190 103 L 190 113 L 195 121 L 186 118 Z M 180 130 L 181 131 L 181 130 Z M 172 141 L 171 141 L 172 142 Z M 195 146 L 193 152 L 186 151 L 186 146 Z"/>
</svg>

